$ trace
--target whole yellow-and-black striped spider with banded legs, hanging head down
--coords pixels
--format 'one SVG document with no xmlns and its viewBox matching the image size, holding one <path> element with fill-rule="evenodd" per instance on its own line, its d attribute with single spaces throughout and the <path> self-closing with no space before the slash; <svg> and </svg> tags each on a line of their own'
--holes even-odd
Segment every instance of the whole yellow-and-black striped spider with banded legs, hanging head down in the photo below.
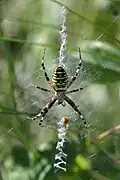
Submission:
<svg viewBox="0 0 120 180">
<path fill-rule="evenodd" d="M 83 88 L 81 87 L 81 88 L 78 88 L 78 89 L 68 91 L 68 88 L 76 80 L 76 78 L 78 76 L 78 73 L 79 73 L 79 70 L 80 70 L 80 67 L 81 67 L 81 52 L 80 52 L 80 49 L 79 49 L 79 59 L 80 59 L 80 61 L 79 61 L 78 67 L 76 69 L 76 72 L 75 72 L 75 74 L 72 77 L 70 82 L 68 81 L 68 75 L 67 75 L 66 71 L 64 70 L 64 68 L 62 66 L 58 66 L 55 69 L 55 71 L 53 72 L 53 75 L 52 75 L 52 81 L 50 81 L 50 79 L 49 79 L 49 77 L 47 75 L 46 69 L 45 69 L 44 57 L 45 57 L 45 50 L 44 50 L 44 54 L 42 56 L 41 66 L 43 68 L 44 75 L 45 75 L 45 78 L 46 78 L 48 84 L 54 90 L 54 97 L 51 99 L 50 102 L 48 102 L 46 104 L 46 106 L 35 117 L 32 117 L 32 118 L 28 117 L 28 118 L 31 119 L 31 120 L 35 120 L 35 119 L 41 117 L 39 125 L 42 126 L 42 122 L 43 122 L 43 119 L 44 119 L 45 115 L 51 109 L 51 107 L 55 104 L 55 102 L 57 102 L 58 105 L 61 104 L 61 105 L 65 106 L 65 101 L 66 101 L 79 114 L 80 118 L 84 121 L 85 127 L 87 127 L 84 116 L 79 111 L 78 106 L 67 96 L 67 94 L 83 90 Z M 45 89 L 45 88 L 35 86 L 35 85 L 32 85 L 32 86 L 39 89 L 39 90 L 46 91 L 48 93 L 51 92 L 50 89 Z"/>
</svg>

